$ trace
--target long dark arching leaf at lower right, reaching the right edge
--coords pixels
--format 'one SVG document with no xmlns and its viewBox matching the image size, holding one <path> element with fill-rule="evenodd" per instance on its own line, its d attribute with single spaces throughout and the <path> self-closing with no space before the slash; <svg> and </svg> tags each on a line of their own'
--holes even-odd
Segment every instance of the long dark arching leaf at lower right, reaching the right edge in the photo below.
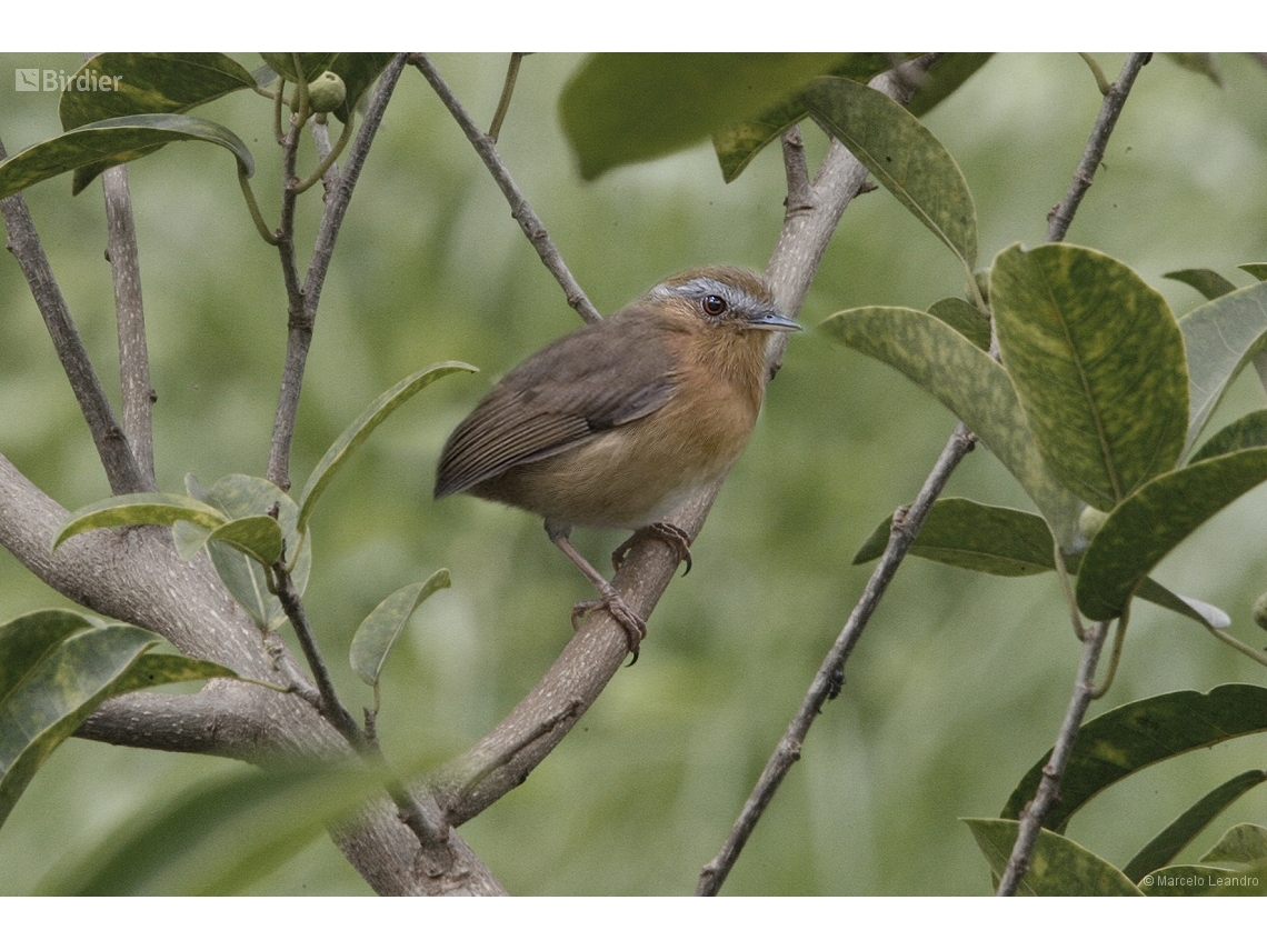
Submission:
<svg viewBox="0 0 1267 950">
<path fill-rule="evenodd" d="M 1082 806 L 1104 789 L 1149 765 L 1194 749 L 1267 731 L 1267 689 L 1243 683 L 1209 693 L 1166 693 L 1119 706 L 1087 722 L 1073 744 L 1060 780 L 1060 801 L 1043 825 L 1064 831 Z M 1001 817 L 1019 818 L 1038 792 L 1043 754 L 1007 799 Z"/>
</svg>

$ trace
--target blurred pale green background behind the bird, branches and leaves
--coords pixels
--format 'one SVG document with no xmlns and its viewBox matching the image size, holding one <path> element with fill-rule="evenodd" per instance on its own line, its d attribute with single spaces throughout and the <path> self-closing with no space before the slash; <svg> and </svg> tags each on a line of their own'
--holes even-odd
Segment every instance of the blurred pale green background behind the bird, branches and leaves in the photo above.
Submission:
<svg viewBox="0 0 1267 950">
<path fill-rule="evenodd" d="M 248 68 L 255 54 L 242 54 Z M 1115 76 L 1120 56 L 1100 57 Z M 0 56 L 0 137 L 10 155 L 57 134 L 57 98 L 15 92 L 14 68 L 72 72 L 77 54 Z M 767 149 L 723 185 L 707 144 L 616 170 L 575 172 L 556 100 L 578 56 L 522 67 L 499 147 L 569 266 L 603 313 L 660 277 L 701 263 L 760 270 L 783 217 L 783 168 Z M 1267 70 L 1219 58 L 1223 86 L 1157 58 L 1135 85 L 1104 167 L 1068 239 L 1136 269 L 1176 315 L 1201 303 L 1162 279 L 1267 260 Z M 436 63 L 487 125 L 503 54 Z M 1100 108 L 1074 54 L 998 54 L 925 122 L 960 163 L 977 203 L 981 263 L 1043 239 Z M 265 218 L 277 218 L 271 106 L 248 92 L 199 110 L 252 149 Z M 805 128 L 813 162 L 825 141 Z M 310 142 L 300 167 L 310 167 Z M 172 144 L 129 166 L 153 381 L 158 481 L 184 491 L 229 472 L 262 475 L 279 386 L 285 296 L 276 252 L 255 232 L 229 156 Z M 92 352 L 118 391 L 113 294 L 100 185 L 68 177 L 27 193 L 37 227 Z M 300 204 L 300 263 L 319 219 Z M 869 575 L 854 551 L 910 502 L 953 418 L 895 371 L 811 328 L 864 304 L 924 308 L 962 293 L 949 252 L 886 191 L 845 214 L 799 314 L 748 452 L 650 619 L 639 664 L 622 670 L 519 789 L 462 826 L 516 894 L 683 894 L 725 839 Z M 541 267 L 469 143 L 407 70 L 357 185 L 318 315 L 293 479 L 303 484 L 343 427 L 380 391 L 431 362 L 464 360 L 360 450 L 314 518 L 308 607 L 345 702 L 369 690 L 346 669 L 364 616 L 436 567 L 454 585 L 428 600 L 388 665 L 379 732 L 389 757 L 465 749 L 504 716 L 570 635 L 590 594 L 540 521 L 469 498 L 431 500 L 450 428 L 492 384 L 576 315 Z M 1253 374 L 1210 432 L 1263 404 Z M 0 452 L 65 507 L 108 486 L 47 333 L 11 257 L 0 261 Z M 973 452 L 946 491 L 1030 508 L 1003 469 Z M 1219 604 L 1232 632 L 1261 645 L 1251 605 L 1267 588 L 1264 489 L 1206 524 L 1154 576 Z M 622 536 L 579 531 L 594 564 Z M 63 603 L 0 552 L 0 617 Z M 1114 706 L 1219 683 L 1262 684 L 1262 668 L 1199 627 L 1142 604 Z M 726 884 L 730 894 L 982 894 L 984 860 L 959 817 L 996 816 L 1050 746 L 1079 645 L 1052 575 L 997 579 L 908 560 Z M 1247 738 L 1182 756 L 1115 787 L 1069 833 L 1117 863 L 1220 782 L 1261 768 Z M 67 854 L 132 816 L 246 766 L 71 740 L 0 828 L 0 893 L 22 894 Z M 1267 820 L 1262 788 L 1181 858 L 1237 821 Z M 251 893 L 369 893 L 328 840 Z"/>
</svg>

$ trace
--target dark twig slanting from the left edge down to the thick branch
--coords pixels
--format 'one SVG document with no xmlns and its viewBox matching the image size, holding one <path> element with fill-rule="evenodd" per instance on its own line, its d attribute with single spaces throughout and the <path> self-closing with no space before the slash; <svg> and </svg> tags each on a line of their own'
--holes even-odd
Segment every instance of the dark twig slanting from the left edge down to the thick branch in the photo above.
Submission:
<svg viewBox="0 0 1267 950">
<path fill-rule="evenodd" d="M 0 142 L 0 160 L 6 157 L 4 143 Z M 44 318 L 48 334 L 52 337 L 57 358 L 61 360 L 66 379 L 71 384 L 75 399 L 80 404 L 80 412 L 87 422 L 96 452 L 105 469 L 105 476 L 110 483 L 110 490 L 117 495 L 129 491 L 143 491 L 146 479 L 141 474 L 141 466 L 132 453 L 128 438 L 119 426 L 110 408 L 110 400 L 105 395 L 101 380 L 92 369 L 92 361 L 84 347 L 84 339 L 75 327 L 66 298 L 57 285 L 53 269 L 48 263 L 44 247 L 35 232 L 35 224 L 30 218 L 30 209 L 22 194 L 10 195 L 0 200 L 0 217 L 4 218 L 5 228 L 9 232 L 9 251 L 18 260 L 18 266 L 27 277 L 30 294 L 35 299 L 35 307 Z"/>
</svg>

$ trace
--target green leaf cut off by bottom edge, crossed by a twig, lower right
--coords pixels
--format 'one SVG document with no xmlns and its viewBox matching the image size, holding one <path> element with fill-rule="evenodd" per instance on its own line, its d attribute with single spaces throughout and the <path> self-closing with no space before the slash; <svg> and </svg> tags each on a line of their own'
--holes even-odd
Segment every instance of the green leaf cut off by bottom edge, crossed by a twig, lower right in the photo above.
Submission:
<svg viewBox="0 0 1267 950">
<path fill-rule="evenodd" d="M 996 877 L 1007 869 L 1019 822 L 1002 818 L 960 818 Z M 1017 894 L 1026 897 L 1142 897 L 1139 888 L 1109 861 L 1082 845 L 1040 828 L 1029 870 Z"/>
</svg>

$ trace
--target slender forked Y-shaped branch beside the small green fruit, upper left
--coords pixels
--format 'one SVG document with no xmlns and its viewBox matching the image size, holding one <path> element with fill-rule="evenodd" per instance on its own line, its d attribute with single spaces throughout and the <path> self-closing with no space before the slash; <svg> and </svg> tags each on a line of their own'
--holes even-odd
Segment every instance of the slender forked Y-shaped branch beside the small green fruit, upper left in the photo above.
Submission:
<svg viewBox="0 0 1267 950">
<path fill-rule="evenodd" d="M 304 367 L 308 364 L 308 350 L 312 346 L 313 327 L 317 322 L 317 305 L 321 303 L 321 291 L 326 284 L 326 272 L 329 270 L 329 261 L 334 253 L 334 242 L 338 231 L 343 224 L 343 214 L 347 204 L 352 199 L 352 189 L 361 175 L 365 157 L 374 143 L 374 136 L 383 122 L 383 113 L 388 108 L 397 80 L 404 70 L 404 54 L 397 56 L 383 71 L 378 87 L 370 99 L 370 105 L 365 110 L 361 120 L 361 130 L 356 134 L 352 149 L 347 156 L 338 181 L 329 187 L 326 195 L 326 213 L 322 217 L 321 228 L 317 232 L 317 242 L 313 247 L 313 256 L 308 263 L 308 274 L 304 277 L 303 289 L 298 286 L 298 276 L 291 277 L 294 269 L 294 236 L 290 242 L 290 265 L 285 263 L 283 255 L 283 270 L 286 274 L 288 326 L 286 326 L 286 362 L 281 371 L 281 393 L 277 396 L 277 414 L 272 424 L 272 442 L 269 447 L 269 469 L 266 478 L 286 490 L 290 488 L 290 446 L 295 437 L 295 417 L 299 413 L 299 394 L 303 389 Z M 352 117 L 348 115 L 348 122 Z M 291 129 L 298 139 L 298 130 Z M 288 142 L 290 139 L 288 138 Z M 289 155 L 289 153 L 288 153 Z M 293 209 L 295 200 L 294 156 L 288 157 L 286 186 L 283 201 L 290 201 Z M 283 205 L 285 208 L 285 204 Z M 293 210 L 291 210 L 293 231 Z M 286 219 L 283 218 L 285 228 Z M 291 286 L 294 284 L 294 286 Z"/>
</svg>

